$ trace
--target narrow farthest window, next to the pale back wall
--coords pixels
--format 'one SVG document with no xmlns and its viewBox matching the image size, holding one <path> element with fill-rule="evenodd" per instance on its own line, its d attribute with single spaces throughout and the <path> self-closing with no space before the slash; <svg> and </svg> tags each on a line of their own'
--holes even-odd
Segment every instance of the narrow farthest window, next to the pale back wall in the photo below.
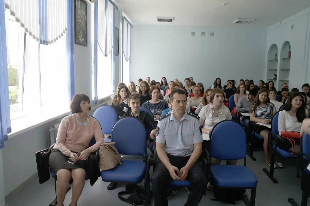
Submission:
<svg viewBox="0 0 310 206">
<path fill-rule="evenodd" d="M 130 63 L 131 63 L 131 32 L 132 27 L 129 22 L 122 18 L 122 78 L 126 85 L 130 82 Z"/>
</svg>

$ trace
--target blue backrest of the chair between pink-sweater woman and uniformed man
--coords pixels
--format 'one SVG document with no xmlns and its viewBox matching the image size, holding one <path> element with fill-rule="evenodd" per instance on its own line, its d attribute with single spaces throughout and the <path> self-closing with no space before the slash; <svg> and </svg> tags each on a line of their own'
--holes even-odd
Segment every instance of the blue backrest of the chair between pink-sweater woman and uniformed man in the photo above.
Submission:
<svg viewBox="0 0 310 206">
<path fill-rule="evenodd" d="M 146 129 L 135 117 L 123 117 L 112 129 L 111 141 L 122 155 L 143 155 L 146 152 Z"/>
</svg>

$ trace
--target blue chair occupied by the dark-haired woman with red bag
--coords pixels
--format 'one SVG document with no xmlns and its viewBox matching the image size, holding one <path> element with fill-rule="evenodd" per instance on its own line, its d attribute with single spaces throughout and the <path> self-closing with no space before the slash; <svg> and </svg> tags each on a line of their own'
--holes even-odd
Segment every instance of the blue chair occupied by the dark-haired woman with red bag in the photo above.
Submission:
<svg viewBox="0 0 310 206">
<path fill-rule="evenodd" d="M 278 111 L 271 119 L 271 130 L 270 130 L 270 133 L 268 135 L 268 150 L 271 150 L 271 153 L 270 153 L 270 169 L 268 171 L 268 169 L 263 168 L 263 171 L 267 174 L 267 176 L 272 180 L 273 183 L 278 183 L 277 179 L 274 178 L 274 176 L 273 176 L 273 172 L 274 172 L 273 165 L 275 163 L 275 156 L 283 156 L 286 158 L 292 158 L 292 157 L 296 158 L 298 156 L 298 154 L 296 154 L 296 153 L 293 153 L 293 155 L 292 155 L 291 151 L 280 149 L 277 146 L 277 143 L 279 141 L 283 141 L 283 139 L 279 135 L 279 129 L 278 129 L 279 112 L 280 111 Z M 275 144 L 272 144 L 272 140 L 274 140 L 274 139 L 276 140 Z M 272 145 L 272 148 L 269 149 L 269 147 L 271 145 Z"/>
</svg>

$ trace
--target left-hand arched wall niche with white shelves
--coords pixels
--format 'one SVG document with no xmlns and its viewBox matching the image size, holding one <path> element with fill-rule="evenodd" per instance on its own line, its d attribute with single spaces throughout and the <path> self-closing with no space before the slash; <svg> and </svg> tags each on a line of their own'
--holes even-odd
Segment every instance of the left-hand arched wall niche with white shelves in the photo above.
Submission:
<svg viewBox="0 0 310 206">
<path fill-rule="evenodd" d="M 279 50 L 276 44 L 272 44 L 268 50 L 268 61 L 267 61 L 267 81 L 273 81 L 274 85 L 277 85 L 277 78 L 275 74 L 278 74 L 278 54 Z"/>
</svg>

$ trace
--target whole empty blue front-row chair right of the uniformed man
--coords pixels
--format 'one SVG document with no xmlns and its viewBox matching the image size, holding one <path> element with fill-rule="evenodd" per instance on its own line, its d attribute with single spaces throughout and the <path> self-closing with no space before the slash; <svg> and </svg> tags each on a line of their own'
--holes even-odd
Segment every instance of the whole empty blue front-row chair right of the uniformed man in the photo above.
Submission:
<svg viewBox="0 0 310 206">
<path fill-rule="evenodd" d="M 210 134 L 210 156 L 219 160 L 244 159 L 241 165 L 213 165 L 210 167 L 214 185 L 219 188 L 251 189 L 250 206 L 255 205 L 257 178 L 246 167 L 246 134 L 237 122 L 221 121 Z M 245 199 L 245 201 L 248 201 Z"/>
</svg>

